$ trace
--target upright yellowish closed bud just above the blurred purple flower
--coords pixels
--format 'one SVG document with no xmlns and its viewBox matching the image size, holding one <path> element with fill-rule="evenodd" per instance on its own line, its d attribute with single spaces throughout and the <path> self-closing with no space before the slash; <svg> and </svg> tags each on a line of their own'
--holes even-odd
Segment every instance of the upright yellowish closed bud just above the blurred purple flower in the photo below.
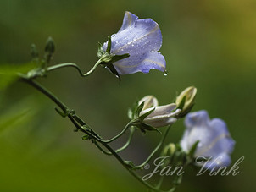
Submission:
<svg viewBox="0 0 256 192">
<path fill-rule="evenodd" d="M 176 97 L 177 108 L 181 109 L 179 115 L 180 118 L 183 118 L 188 112 L 191 111 L 195 97 L 197 94 L 197 88 L 194 86 L 187 87 L 184 91 L 181 92 L 179 96 Z"/>
</svg>

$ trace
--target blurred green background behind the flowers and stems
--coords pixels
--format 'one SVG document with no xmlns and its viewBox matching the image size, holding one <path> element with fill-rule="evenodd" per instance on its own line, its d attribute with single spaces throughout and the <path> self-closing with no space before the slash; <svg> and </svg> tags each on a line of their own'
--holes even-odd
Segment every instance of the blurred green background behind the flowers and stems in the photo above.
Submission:
<svg viewBox="0 0 256 192">
<path fill-rule="evenodd" d="M 195 85 L 193 111 L 206 109 L 211 118 L 225 119 L 237 141 L 232 160 L 245 160 L 235 177 L 196 177 L 189 170 L 177 191 L 255 191 L 255 1 L 1 0 L 0 63 L 30 61 L 31 43 L 42 56 L 53 36 L 53 63 L 77 63 L 87 71 L 97 61 L 97 42 L 120 29 L 126 10 L 159 23 L 168 76 L 131 74 L 119 84 L 103 68 L 86 79 L 75 69 L 61 69 L 40 82 L 105 138 L 125 126 L 136 99 L 152 94 L 167 104 L 177 91 Z M 81 140 L 53 107 L 20 82 L 0 92 L 1 191 L 146 191 L 113 157 Z M 183 130 L 183 122 L 176 123 L 167 140 L 178 142 Z M 140 163 L 158 140 L 159 134 L 137 133 L 122 156 Z"/>
</svg>

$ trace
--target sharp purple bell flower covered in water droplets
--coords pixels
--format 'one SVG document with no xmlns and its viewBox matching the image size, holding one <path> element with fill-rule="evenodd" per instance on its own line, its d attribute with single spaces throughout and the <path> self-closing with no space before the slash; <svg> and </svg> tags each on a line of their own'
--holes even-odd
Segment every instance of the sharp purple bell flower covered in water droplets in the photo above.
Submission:
<svg viewBox="0 0 256 192">
<path fill-rule="evenodd" d="M 150 69 L 165 70 L 164 56 L 158 52 L 162 46 L 159 25 L 153 19 L 138 19 L 135 14 L 125 13 L 120 30 L 111 36 L 113 55 L 128 53 L 130 57 L 113 63 L 118 74 L 148 73 Z M 103 44 L 106 51 L 108 41 Z"/>
</svg>

